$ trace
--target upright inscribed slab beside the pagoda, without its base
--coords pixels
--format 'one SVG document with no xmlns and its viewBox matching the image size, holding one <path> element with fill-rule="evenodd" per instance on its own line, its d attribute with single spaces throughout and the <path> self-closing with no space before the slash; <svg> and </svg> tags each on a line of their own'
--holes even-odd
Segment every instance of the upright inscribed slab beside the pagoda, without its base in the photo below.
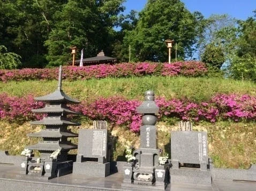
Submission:
<svg viewBox="0 0 256 191">
<path fill-rule="evenodd" d="M 80 129 L 78 136 L 78 155 L 83 157 L 107 158 L 107 130 Z"/>
</svg>

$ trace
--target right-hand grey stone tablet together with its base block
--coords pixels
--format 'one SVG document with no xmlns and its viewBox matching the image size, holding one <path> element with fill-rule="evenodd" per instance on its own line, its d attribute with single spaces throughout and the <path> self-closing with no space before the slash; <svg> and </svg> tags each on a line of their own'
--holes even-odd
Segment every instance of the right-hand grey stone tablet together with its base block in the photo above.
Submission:
<svg viewBox="0 0 256 191">
<path fill-rule="evenodd" d="M 210 186 L 207 132 L 171 131 L 171 163 L 171 183 Z"/>
</svg>

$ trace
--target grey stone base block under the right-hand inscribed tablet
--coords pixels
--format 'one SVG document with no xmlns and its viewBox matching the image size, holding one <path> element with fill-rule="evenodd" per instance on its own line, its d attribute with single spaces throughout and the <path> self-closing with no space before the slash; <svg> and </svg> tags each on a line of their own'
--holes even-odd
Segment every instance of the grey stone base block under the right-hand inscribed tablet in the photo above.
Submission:
<svg viewBox="0 0 256 191">
<path fill-rule="evenodd" d="M 210 170 L 195 168 L 170 169 L 171 184 L 212 185 Z"/>
</svg>

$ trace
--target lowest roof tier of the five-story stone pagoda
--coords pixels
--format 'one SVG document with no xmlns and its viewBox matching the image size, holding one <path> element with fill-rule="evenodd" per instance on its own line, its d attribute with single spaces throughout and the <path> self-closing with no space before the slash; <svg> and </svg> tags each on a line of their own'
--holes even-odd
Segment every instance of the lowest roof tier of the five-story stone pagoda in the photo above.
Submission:
<svg viewBox="0 0 256 191">
<path fill-rule="evenodd" d="M 77 145 L 72 144 L 70 141 L 60 142 L 60 141 L 39 141 L 35 145 L 31 145 L 26 147 L 30 150 L 70 150 L 76 149 Z"/>
</svg>

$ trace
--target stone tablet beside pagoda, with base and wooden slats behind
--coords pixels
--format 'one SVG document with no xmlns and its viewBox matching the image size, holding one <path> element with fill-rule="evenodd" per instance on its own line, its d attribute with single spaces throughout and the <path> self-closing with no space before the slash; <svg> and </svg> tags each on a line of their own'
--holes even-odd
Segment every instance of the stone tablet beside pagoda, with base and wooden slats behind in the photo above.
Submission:
<svg viewBox="0 0 256 191">
<path fill-rule="evenodd" d="M 94 129 L 80 129 L 77 162 L 73 174 L 106 177 L 110 174 L 108 161 L 108 131 L 106 121 L 94 121 Z"/>
</svg>

